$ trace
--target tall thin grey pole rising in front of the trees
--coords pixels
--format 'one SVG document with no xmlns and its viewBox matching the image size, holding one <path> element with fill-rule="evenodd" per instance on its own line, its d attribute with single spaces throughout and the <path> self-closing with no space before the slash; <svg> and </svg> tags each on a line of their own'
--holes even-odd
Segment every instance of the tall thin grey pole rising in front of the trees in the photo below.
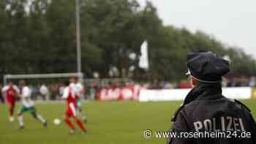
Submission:
<svg viewBox="0 0 256 144">
<path fill-rule="evenodd" d="M 82 71 L 81 68 L 81 43 L 80 43 L 80 1 L 75 0 L 76 10 L 76 30 L 77 30 L 77 61 L 78 61 L 78 73 Z"/>
</svg>

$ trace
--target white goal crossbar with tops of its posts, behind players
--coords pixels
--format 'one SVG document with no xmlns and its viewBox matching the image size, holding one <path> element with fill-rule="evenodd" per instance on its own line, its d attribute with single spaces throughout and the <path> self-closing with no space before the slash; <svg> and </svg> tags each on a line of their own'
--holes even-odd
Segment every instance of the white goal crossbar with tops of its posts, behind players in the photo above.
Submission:
<svg viewBox="0 0 256 144">
<path fill-rule="evenodd" d="M 83 73 L 51 73 L 51 74 L 24 74 L 24 75 L 4 75 L 4 86 L 7 85 L 7 80 L 13 79 L 40 79 L 40 78 L 59 78 L 59 77 L 78 77 L 78 80 L 83 82 Z"/>
</svg>

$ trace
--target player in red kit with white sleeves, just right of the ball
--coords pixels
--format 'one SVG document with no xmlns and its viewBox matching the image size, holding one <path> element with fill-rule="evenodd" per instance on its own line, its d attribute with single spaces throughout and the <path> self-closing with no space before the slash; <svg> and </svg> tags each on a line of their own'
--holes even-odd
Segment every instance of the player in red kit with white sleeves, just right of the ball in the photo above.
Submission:
<svg viewBox="0 0 256 144">
<path fill-rule="evenodd" d="M 67 126 L 69 126 L 69 128 L 70 128 L 70 134 L 75 133 L 75 127 L 71 123 L 70 118 L 75 119 L 75 121 L 78 124 L 78 126 L 80 127 L 80 129 L 82 129 L 82 133 L 85 134 L 86 129 L 83 126 L 83 122 L 77 116 L 77 110 L 76 110 L 77 109 L 77 105 L 76 105 L 77 96 L 75 96 L 74 91 L 72 91 L 72 89 L 69 87 L 69 81 L 65 81 L 64 86 L 65 86 L 65 89 L 64 89 L 63 95 L 61 97 L 61 99 L 67 100 L 67 108 L 66 108 L 66 112 L 64 115 L 64 121 L 67 124 Z"/>
</svg>

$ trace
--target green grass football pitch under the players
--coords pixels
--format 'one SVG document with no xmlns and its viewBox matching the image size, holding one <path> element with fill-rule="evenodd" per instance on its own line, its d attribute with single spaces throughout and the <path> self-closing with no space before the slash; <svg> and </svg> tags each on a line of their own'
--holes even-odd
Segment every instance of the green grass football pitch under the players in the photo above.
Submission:
<svg viewBox="0 0 256 144">
<path fill-rule="evenodd" d="M 256 113 L 256 100 L 244 103 Z M 62 118 L 65 105 L 61 103 L 37 104 L 37 112 L 48 120 L 48 128 L 26 113 L 25 129 L 18 130 L 17 118 L 10 123 L 7 118 L 7 106 L 0 105 L 0 143 L 1 144 L 128 144 L 128 143 L 165 143 L 165 139 L 145 139 L 143 131 L 153 132 L 170 128 L 170 118 L 181 102 L 85 102 L 89 121 L 86 124 L 88 133 L 69 134 L 63 122 L 53 125 L 54 118 Z M 19 106 L 15 108 L 17 112 Z M 74 124 L 74 123 L 73 123 Z"/>
</svg>

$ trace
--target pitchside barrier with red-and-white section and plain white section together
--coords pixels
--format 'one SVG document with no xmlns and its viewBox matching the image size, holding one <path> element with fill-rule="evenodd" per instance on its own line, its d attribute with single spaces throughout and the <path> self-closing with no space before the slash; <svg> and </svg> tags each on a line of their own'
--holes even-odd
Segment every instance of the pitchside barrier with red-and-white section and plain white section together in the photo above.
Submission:
<svg viewBox="0 0 256 144">
<path fill-rule="evenodd" d="M 141 89 L 140 86 L 125 86 L 123 88 L 103 88 L 97 94 L 99 101 L 138 100 L 140 102 L 184 100 L 191 88 L 183 89 Z M 222 94 L 229 99 L 251 99 L 252 88 L 222 88 Z"/>
</svg>

